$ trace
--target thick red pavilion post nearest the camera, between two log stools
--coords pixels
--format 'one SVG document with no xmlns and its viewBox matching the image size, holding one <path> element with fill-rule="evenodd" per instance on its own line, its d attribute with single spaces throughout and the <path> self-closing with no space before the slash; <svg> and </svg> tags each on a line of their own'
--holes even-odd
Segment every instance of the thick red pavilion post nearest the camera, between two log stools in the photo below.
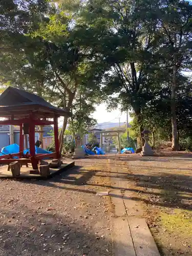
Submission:
<svg viewBox="0 0 192 256">
<path fill-rule="evenodd" d="M 30 148 L 32 167 L 33 169 L 37 169 L 38 160 L 35 159 L 35 123 L 33 120 L 31 120 L 29 124 L 29 148 Z"/>
</svg>

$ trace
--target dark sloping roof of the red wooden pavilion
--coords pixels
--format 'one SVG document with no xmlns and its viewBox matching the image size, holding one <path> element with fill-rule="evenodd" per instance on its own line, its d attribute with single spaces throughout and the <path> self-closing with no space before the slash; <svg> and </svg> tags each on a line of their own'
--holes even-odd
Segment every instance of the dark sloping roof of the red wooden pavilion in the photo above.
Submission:
<svg viewBox="0 0 192 256">
<path fill-rule="evenodd" d="M 36 94 L 8 87 L 0 96 L 0 116 L 23 117 L 29 113 L 38 117 L 70 116 L 67 110 L 59 109 Z"/>
</svg>

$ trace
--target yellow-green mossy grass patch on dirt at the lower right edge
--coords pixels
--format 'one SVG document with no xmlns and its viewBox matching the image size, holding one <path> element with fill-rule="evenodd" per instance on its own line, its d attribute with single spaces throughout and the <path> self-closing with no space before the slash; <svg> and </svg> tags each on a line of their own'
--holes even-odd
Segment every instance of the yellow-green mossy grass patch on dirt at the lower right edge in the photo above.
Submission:
<svg viewBox="0 0 192 256">
<path fill-rule="evenodd" d="M 192 213 L 189 210 L 175 209 L 172 214 L 161 212 L 160 222 L 168 232 L 192 236 Z"/>
</svg>

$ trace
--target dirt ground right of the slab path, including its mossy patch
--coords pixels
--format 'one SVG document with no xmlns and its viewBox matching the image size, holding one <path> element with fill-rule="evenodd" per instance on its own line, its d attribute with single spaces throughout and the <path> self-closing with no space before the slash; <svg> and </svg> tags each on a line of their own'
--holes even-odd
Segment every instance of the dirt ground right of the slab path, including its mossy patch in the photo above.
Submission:
<svg viewBox="0 0 192 256">
<path fill-rule="evenodd" d="M 132 155 L 127 165 L 133 199 L 142 203 L 161 255 L 192 255 L 192 155 L 165 151 L 148 158 Z"/>
</svg>

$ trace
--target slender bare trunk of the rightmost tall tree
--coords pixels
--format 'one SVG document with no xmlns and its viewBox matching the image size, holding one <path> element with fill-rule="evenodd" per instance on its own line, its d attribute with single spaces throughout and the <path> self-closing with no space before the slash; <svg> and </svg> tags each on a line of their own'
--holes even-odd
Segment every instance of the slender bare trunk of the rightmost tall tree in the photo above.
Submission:
<svg viewBox="0 0 192 256">
<path fill-rule="evenodd" d="M 172 150 L 177 151 L 179 148 L 177 132 L 177 115 L 176 115 L 176 88 L 177 88 L 177 66 L 174 65 L 172 94 L 170 95 L 170 104 L 172 111 Z"/>
</svg>

